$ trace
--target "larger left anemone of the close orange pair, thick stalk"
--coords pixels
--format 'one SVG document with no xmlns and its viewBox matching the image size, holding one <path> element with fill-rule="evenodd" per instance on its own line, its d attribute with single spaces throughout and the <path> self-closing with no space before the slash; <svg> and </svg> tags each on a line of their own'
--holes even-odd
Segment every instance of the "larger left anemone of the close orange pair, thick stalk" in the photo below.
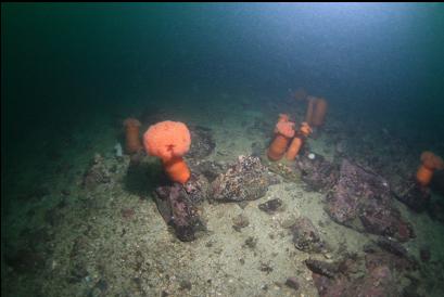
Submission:
<svg viewBox="0 0 444 297">
<path fill-rule="evenodd" d="M 279 117 L 275 128 L 275 139 L 268 147 L 268 158 L 271 160 L 280 159 L 286 153 L 287 145 L 292 137 L 294 137 L 294 122 L 284 120 Z"/>
</svg>

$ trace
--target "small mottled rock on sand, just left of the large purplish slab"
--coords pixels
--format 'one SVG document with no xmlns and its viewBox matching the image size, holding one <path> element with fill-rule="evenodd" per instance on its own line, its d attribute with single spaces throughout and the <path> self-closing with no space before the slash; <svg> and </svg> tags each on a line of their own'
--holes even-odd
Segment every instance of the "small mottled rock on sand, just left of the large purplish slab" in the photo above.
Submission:
<svg viewBox="0 0 444 297">
<path fill-rule="evenodd" d="M 319 232 L 308 218 L 299 218 L 291 227 L 294 246 L 307 253 L 320 253 L 325 246 Z"/>
</svg>

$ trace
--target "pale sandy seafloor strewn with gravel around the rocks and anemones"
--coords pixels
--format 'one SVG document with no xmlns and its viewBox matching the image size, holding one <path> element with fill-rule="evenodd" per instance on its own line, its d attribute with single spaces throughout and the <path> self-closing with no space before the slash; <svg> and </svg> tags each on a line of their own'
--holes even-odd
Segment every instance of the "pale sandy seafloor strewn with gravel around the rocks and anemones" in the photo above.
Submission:
<svg viewBox="0 0 444 297">
<path fill-rule="evenodd" d="M 155 107 L 168 111 L 172 120 L 212 129 L 216 147 L 206 158 L 217 162 L 232 163 L 251 154 L 255 142 L 265 147 L 279 113 L 296 115 L 299 121 L 305 113 L 305 105 L 292 99 L 229 93 L 211 98 L 196 92 L 176 96 L 174 103 L 166 98 Z M 154 185 L 144 188 L 150 172 L 138 181 L 128 180 L 129 156 L 118 159 L 113 148 L 123 119 L 152 107 L 153 103 L 140 100 L 91 113 L 89 121 L 36 130 L 23 140 L 26 150 L 17 152 L 21 157 L 8 168 L 4 180 L 4 193 L 12 202 L 2 216 L 3 296 L 318 296 L 304 260 L 330 261 L 345 251 L 361 255 L 363 246 L 376 238 L 333 222 L 324 210 L 325 193 L 307 191 L 297 179 L 281 179 L 244 208 L 205 202 L 201 216 L 208 232 L 193 242 L 180 242 L 156 209 L 151 196 Z M 381 175 L 390 181 L 416 170 L 423 147 L 406 152 L 399 146 L 403 139 L 391 134 L 391 129 L 373 129 L 375 124 L 363 124 L 345 113 L 330 104 L 320 137 L 308 141 L 310 151 L 332 160 L 340 140 L 347 143 L 352 159 L 383 158 L 395 150 L 404 154 L 403 164 L 385 164 Z M 258 121 L 270 130 L 258 129 Z M 352 129 L 358 130 L 353 138 Z M 367 143 L 379 145 L 361 150 Z M 114 172 L 111 182 L 88 191 L 81 181 L 94 154 Z M 157 160 L 150 157 L 150 162 Z M 282 211 L 268 215 L 258 209 L 258 204 L 277 197 L 283 202 Z M 416 238 L 403 244 L 409 254 L 421 262 L 419 249 L 430 249 L 430 261 L 414 272 L 421 280 L 418 293 L 444 296 L 444 224 L 397 201 L 394 204 L 415 229 Z M 250 222 L 241 232 L 232 228 L 239 215 Z M 313 221 L 329 253 L 309 255 L 294 247 L 286 227 L 301 216 Z M 256 244 L 245 244 L 249 241 Z M 4 255 L 17 250 L 20 261 L 7 264 Z M 290 276 L 297 279 L 297 290 L 284 285 Z"/>
</svg>

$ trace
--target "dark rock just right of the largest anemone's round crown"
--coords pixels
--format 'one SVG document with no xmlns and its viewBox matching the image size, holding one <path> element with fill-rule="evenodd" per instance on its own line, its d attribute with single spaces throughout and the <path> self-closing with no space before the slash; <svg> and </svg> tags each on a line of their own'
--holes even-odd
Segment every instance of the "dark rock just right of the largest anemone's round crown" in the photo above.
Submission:
<svg viewBox="0 0 444 297">
<path fill-rule="evenodd" d="M 190 126 L 190 134 L 191 146 L 187 157 L 201 159 L 213 153 L 216 143 L 213 140 L 213 132 L 210 128 Z"/>
</svg>

